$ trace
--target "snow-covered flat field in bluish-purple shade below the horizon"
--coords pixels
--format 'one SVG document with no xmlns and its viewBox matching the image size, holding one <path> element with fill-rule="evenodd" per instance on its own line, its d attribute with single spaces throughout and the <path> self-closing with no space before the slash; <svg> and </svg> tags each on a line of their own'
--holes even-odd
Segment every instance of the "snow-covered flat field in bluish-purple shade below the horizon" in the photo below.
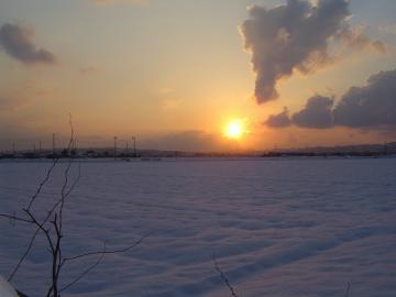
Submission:
<svg viewBox="0 0 396 297">
<path fill-rule="evenodd" d="M 50 163 L 0 163 L 0 210 L 26 205 Z M 61 193 L 56 167 L 35 210 Z M 64 254 L 127 246 L 63 296 L 396 296 L 396 158 L 85 162 L 65 208 Z M 76 167 L 72 175 L 76 174 Z M 16 211 L 16 215 L 21 213 Z M 13 226 L 14 224 L 14 226 Z M 0 221 L 0 274 L 33 229 Z M 48 284 L 38 241 L 13 279 Z M 64 284 L 96 258 L 66 267 Z"/>
</svg>

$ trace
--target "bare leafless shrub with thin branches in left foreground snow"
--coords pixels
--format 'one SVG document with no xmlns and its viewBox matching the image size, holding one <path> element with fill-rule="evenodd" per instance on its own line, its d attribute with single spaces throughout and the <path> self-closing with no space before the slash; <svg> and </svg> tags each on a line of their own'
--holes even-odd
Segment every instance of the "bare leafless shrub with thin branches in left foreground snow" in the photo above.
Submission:
<svg viewBox="0 0 396 297">
<path fill-rule="evenodd" d="M 66 148 L 67 152 L 70 152 L 72 145 L 74 143 L 74 127 L 70 114 L 69 114 L 69 125 L 70 125 L 70 139 L 68 142 L 68 146 Z M 0 213 L 0 218 L 9 219 L 12 223 L 18 221 L 18 222 L 32 224 L 35 228 L 24 253 L 21 255 L 21 257 L 19 258 L 18 263 L 15 264 L 15 266 L 13 267 L 13 270 L 11 271 L 8 277 L 9 282 L 12 280 L 16 272 L 20 270 L 22 263 L 30 254 L 37 235 L 43 235 L 45 238 L 48 251 L 51 253 L 51 285 L 47 288 L 46 297 L 59 297 L 62 292 L 72 287 L 74 284 L 79 282 L 84 276 L 86 276 L 90 271 L 92 271 L 102 261 L 106 254 L 128 252 L 132 248 L 139 245 L 146 237 L 148 237 L 148 234 L 141 237 L 136 242 L 121 250 L 107 250 L 105 243 L 103 249 L 101 251 L 95 251 L 95 252 L 84 253 L 74 256 L 64 256 L 63 245 L 62 245 L 64 238 L 64 233 L 63 233 L 64 208 L 67 198 L 75 189 L 75 187 L 77 186 L 80 179 L 81 163 L 78 162 L 78 175 L 72 183 L 69 172 L 73 164 L 75 163 L 75 158 L 73 156 L 68 158 L 66 169 L 64 170 L 64 182 L 61 190 L 61 197 L 52 206 L 48 207 L 47 212 L 44 216 L 43 220 L 40 220 L 37 213 L 33 210 L 34 204 L 38 199 L 40 194 L 42 193 L 44 186 L 50 180 L 50 177 L 56 165 L 59 163 L 59 160 L 61 156 L 58 157 L 54 156 L 52 165 L 47 169 L 45 177 L 40 183 L 37 189 L 30 198 L 28 206 L 25 208 L 22 208 L 24 216 L 18 217 L 15 216 L 15 212 L 13 212 L 12 215 Z M 75 262 L 84 257 L 90 257 L 90 256 L 98 256 L 98 258 L 91 266 L 82 271 L 74 280 L 69 282 L 64 286 L 61 286 L 59 276 L 64 266 L 69 262 Z"/>
</svg>

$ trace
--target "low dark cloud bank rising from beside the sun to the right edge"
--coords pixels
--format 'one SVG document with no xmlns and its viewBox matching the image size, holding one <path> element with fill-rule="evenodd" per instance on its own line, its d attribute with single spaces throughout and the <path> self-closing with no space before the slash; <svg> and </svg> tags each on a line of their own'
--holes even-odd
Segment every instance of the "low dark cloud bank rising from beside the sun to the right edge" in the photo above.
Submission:
<svg viewBox="0 0 396 297">
<path fill-rule="evenodd" d="M 395 129 L 396 69 L 371 76 L 363 87 L 351 87 L 337 105 L 333 98 L 314 96 L 302 110 L 292 117 L 284 110 L 279 114 L 270 116 L 265 123 L 272 128 L 282 128 L 277 121 L 312 129 Z"/>
</svg>

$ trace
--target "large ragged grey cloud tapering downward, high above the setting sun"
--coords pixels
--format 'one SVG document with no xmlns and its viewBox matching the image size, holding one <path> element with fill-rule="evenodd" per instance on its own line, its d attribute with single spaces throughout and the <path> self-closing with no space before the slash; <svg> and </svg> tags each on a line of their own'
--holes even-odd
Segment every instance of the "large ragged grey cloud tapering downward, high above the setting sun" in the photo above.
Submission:
<svg viewBox="0 0 396 297">
<path fill-rule="evenodd" d="M 383 50 L 381 42 L 364 35 L 364 30 L 351 28 L 348 0 L 316 2 L 288 0 L 274 9 L 260 6 L 249 9 L 251 18 L 240 26 L 240 32 L 245 50 L 252 55 L 257 103 L 276 99 L 277 81 L 294 70 L 308 73 L 332 62 L 331 42 Z"/>
</svg>

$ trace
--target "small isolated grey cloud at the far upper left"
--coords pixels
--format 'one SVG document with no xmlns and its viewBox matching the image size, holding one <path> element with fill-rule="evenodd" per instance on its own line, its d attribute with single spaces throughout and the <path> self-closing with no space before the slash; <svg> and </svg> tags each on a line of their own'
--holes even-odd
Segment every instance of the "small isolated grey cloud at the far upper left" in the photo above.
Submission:
<svg viewBox="0 0 396 297">
<path fill-rule="evenodd" d="M 33 43 L 34 31 L 19 24 L 6 23 L 0 26 L 0 48 L 11 57 L 24 64 L 54 64 L 54 54 L 45 48 L 37 48 Z"/>
</svg>

